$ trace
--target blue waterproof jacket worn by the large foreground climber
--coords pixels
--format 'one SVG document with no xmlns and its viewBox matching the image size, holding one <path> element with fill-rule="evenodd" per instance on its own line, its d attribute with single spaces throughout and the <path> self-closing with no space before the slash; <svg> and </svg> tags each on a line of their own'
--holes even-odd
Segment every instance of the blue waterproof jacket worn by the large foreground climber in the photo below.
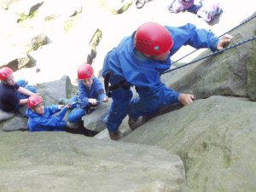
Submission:
<svg viewBox="0 0 256 192">
<path fill-rule="evenodd" d="M 197 29 L 192 24 L 181 27 L 166 26 L 173 39 L 173 47 L 166 61 L 154 61 L 146 58 L 140 60 L 135 54 L 134 38 L 135 32 L 131 37 L 124 38 L 117 48 L 108 52 L 103 64 L 102 75 L 105 77 L 108 71 L 114 74 L 114 81 L 126 80 L 129 84 L 135 85 L 140 96 L 163 96 L 166 85 L 160 81 L 160 73 L 168 70 L 171 65 L 170 57 L 174 55 L 183 45 L 191 45 L 195 48 L 210 48 L 215 51 L 218 44 L 212 32 L 205 29 Z M 178 102 L 179 93 L 173 91 L 173 102 Z M 170 96 L 170 91 L 169 91 Z"/>
</svg>

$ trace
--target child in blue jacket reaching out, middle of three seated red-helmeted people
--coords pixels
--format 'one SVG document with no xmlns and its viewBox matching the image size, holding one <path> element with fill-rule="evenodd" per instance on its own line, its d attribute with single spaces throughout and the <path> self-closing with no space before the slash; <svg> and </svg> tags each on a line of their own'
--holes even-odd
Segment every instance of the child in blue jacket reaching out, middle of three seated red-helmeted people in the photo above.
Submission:
<svg viewBox="0 0 256 192">
<path fill-rule="evenodd" d="M 64 105 L 44 107 L 43 98 L 38 95 L 30 96 L 27 100 L 26 115 L 29 131 L 66 131 L 67 123 L 63 120 L 67 108 Z M 55 113 L 61 111 L 58 115 Z"/>
</svg>

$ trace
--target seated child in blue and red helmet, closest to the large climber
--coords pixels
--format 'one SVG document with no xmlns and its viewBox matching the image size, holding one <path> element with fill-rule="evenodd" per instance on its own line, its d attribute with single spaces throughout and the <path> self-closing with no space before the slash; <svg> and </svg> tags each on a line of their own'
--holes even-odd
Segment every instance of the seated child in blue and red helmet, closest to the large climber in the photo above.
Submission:
<svg viewBox="0 0 256 192">
<path fill-rule="evenodd" d="M 94 77 L 94 70 L 90 64 L 79 66 L 79 96 L 73 96 L 71 99 L 61 98 L 60 104 L 71 105 L 71 113 L 67 120 L 70 123 L 78 123 L 86 114 L 92 112 L 100 102 L 108 102 L 102 83 Z"/>
</svg>

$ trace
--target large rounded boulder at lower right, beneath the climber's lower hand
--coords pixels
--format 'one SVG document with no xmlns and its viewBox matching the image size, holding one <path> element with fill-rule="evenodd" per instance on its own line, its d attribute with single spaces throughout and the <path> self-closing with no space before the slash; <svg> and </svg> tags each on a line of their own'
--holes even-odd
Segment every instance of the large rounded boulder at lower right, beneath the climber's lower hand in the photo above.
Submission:
<svg viewBox="0 0 256 192">
<path fill-rule="evenodd" d="M 177 154 L 191 191 L 256 191 L 255 117 L 256 102 L 211 96 L 149 120 L 122 142 Z"/>
</svg>

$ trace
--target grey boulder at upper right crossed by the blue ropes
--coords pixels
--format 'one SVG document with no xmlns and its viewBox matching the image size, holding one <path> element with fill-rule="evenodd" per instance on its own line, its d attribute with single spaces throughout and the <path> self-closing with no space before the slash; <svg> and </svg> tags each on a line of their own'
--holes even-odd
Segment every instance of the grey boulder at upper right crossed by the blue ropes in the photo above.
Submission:
<svg viewBox="0 0 256 192">
<path fill-rule="evenodd" d="M 233 44 L 252 38 L 255 35 L 256 20 L 230 32 L 234 38 Z M 179 69 L 175 73 L 166 73 L 162 79 L 172 89 L 194 94 L 197 98 L 209 96 L 249 96 L 253 99 L 256 76 L 253 42 L 230 49 L 223 54 L 212 56 L 206 60 L 194 63 L 190 67 Z M 210 51 L 200 55 L 210 54 Z M 251 58 L 250 60 L 248 58 Z M 254 64 L 253 64 L 254 61 Z M 249 76 L 247 77 L 247 73 Z M 248 84 L 247 84 L 248 82 Z"/>
</svg>

